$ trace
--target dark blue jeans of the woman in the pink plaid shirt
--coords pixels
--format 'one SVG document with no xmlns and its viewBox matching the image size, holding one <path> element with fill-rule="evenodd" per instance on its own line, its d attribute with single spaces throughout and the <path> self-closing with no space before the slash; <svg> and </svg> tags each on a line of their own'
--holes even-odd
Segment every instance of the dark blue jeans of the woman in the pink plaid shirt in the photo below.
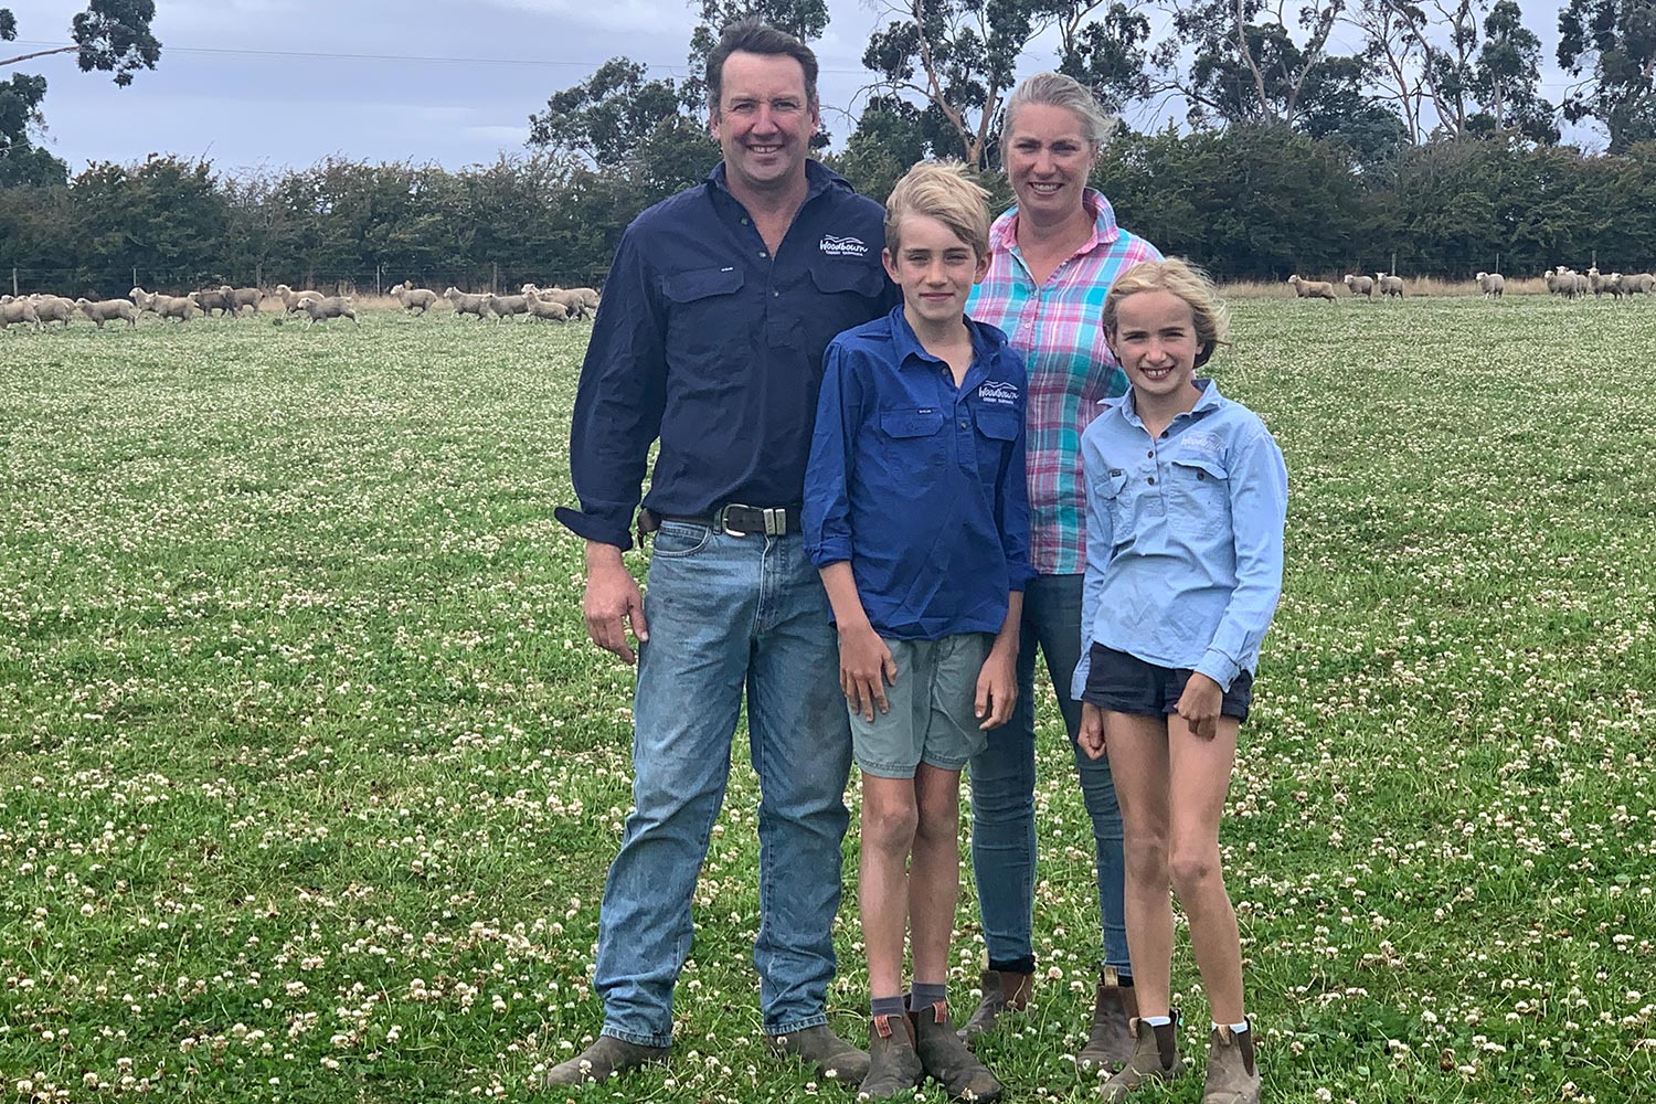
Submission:
<svg viewBox="0 0 1656 1104">
<path fill-rule="evenodd" d="M 1070 677 L 1081 659 L 1081 576 L 1040 574 L 1023 591 L 1018 636 L 1018 702 L 1005 728 L 972 756 L 972 874 L 992 968 L 1033 962 L 1035 907 L 1035 649 L 1058 692 L 1058 710 L 1081 776 L 1081 799 L 1093 819 L 1098 857 L 1098 912 L 1103 962 L 1131 975 L 1123 917 L 1121 806 L 1110 760 L 1090 760 L 1075 745 L 1081 703 L 1070 698 Z"/>
</svg>

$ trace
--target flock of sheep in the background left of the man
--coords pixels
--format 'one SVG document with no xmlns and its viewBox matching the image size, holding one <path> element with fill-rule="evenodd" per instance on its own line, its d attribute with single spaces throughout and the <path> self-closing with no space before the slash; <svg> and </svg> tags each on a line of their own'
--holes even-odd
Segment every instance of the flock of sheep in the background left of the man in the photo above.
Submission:
<svg viewBox="0 0 1656 1104">
<path fill-rule="evenodd" d="M 447 300 L 454 314 L 475 314 L 479 319 L 493 318 L 497 323 L 513 314 L 530 318 L 568 321 L 573 318 L 591 318 L 598 310 L 598 291 L 595 288 L 538 288 L 525 283 L 518 295 L 470 295 L 449 288 L 442 295 L 427 288 L 416 288 L 412 283 L 399 283 L 391 288 L 391 296 L 411 314 L 424 314 L 440 300 Z M 252 308 L 253 314 L 268 300 L 282 301 L 282 314 L 303 314 L 311 326 L 330 318 L 349 318 L 361 324 L 348 295 L 323 295 L 321 291 L 295 291 L 285 283 L 278 283 L 273 293 L 262 288 L 232 288 L 220 285 L 204 288 L 189 295 L 162 295 L 132 288 L 124 300 L 68 300 L 61 295 L 0 295 L 0 329 L 13 323 L 31 324 L 45 329 L 48 323 L 63 323 L 68 329 L 70 319 L 79 311 L 93 319 L 99 329 L 108 321 L 124 321 L 137 326 L 139 314 L 151 313 L 157 319 L 177 319 L 181 324 L 195 316 L 240 314 L 242 308 Z"/>
</svg>

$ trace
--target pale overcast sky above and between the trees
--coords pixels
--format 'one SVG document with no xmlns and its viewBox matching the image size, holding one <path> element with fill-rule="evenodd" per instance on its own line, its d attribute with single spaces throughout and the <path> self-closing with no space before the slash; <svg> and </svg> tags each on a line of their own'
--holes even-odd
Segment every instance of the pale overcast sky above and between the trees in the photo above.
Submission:
<svg viewBox="0 0 1656 1104">
<path fill-rule="evenodd" d="M 1558 5 L 1520 0 L 1543 43 L 1545 96 L 1557 103 Z M 0 0 L 17 13 L 15 53 L 70 41 L 84 2 Z M 78 172 L 89 161 L 149 152 L 209 157 L 222 172 L 310 166 L 328 156 L 436 162 L 457 169 L 523 152 L 528 116 L 553 91 L 626 55 L 654 76 L 682 76 L 691 8 L 684 0 L 157 0 L 156 71 L 129 88 L 84 74 L 73 55 L 13 71 L 41 73 L 46 146 Z M 830 0 L 815 45 L 821 99 L 836 141 L 851 131 L 868 81 L 868 33 L 884 22 L 869 0 Z M 1350 36 L 1350 31 L 1348 31 Z M 1345 45 L 1350 50 L 1355 38 Z M 1052 65 L 1030 50 L 1023 71 Z M 1154 111 L 1129 113 L 1153 126 Z M 1601 147 L 1588 129 L 1568 141 Z"/>
</svg>

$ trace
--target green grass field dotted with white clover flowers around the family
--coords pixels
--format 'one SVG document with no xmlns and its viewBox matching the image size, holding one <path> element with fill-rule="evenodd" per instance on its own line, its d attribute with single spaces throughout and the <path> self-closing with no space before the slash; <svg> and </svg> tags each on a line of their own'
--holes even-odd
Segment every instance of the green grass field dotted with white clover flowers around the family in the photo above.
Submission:
<svg viewBox="0 0 1656 1104">
<path fill-rule="evenodd" d="M 586 333 L 0 333 L 0 1099 L 545 1099 L 596 1033 L 631 672 L 551 518 Z M 1224 833 L 1267 1099 L 1643 1099 L 1656 305 L 1247 300 L 1214 367 L 1293 480 Z M 1091 842 L 1043 720 L 1047 973 L 982 1054 L 1086 1101 Z M 758 1044 L 742 746 L 676 1056 L 578 1099 L 851 1099 Z M 861 1038 L 853 892 L 840 952 Z M 967 1008 L 980 952 L 967 887 Z M 1199 1054 L 1187 947 L 1174 983 Z"/>
</svg>

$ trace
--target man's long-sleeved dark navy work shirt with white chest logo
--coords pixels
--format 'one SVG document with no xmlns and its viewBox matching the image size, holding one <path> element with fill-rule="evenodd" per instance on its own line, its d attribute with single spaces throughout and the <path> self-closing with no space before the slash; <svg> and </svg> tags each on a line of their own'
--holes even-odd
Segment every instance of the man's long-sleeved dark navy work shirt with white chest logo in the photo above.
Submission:
<svg viewBox="0 0 1656 1104">
<path fill-rule="evenodd" d="M 802 500 L 823 349 L 896 298 L 879 262 L 884 209 L 815 161 L 805 174 L 775 257 L 722 162 L 626 228 L 575 399 L 581 508 L 556 511 L 580 536 L 631 548 L 657 437 L 644 498 L 656 515 Z"/>
</svg>

